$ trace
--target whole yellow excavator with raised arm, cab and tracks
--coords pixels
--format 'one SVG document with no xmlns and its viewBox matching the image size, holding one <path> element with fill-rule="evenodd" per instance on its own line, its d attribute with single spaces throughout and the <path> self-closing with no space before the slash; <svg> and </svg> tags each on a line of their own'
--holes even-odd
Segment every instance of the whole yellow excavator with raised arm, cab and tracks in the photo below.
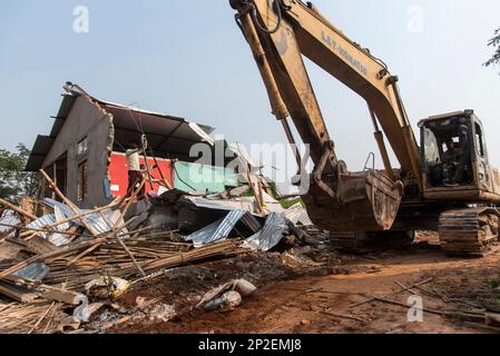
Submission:
<svg viewBox="0 0 500 356">
<path fill-rule="evenodd" d="M 273 115 L 291 144 L 296 142 L 288 118 L 310 145 L 314 170 L 303 198 L 318 227 L 346 241 L 434 230 L 448 254 L 482 256 L 490 250 L 498 241 L 500 176 L 489 165 L 483 126 L 473 110 L 421 120 L 419 145 L 398 77 L 314 4 L 229 3 L 257 62 Z M 302 56 L 366 101 L 384 169 L 351 172 L 337 158 Z M 385 140 L 400 168 L 391 165 Z"/>
</svg>

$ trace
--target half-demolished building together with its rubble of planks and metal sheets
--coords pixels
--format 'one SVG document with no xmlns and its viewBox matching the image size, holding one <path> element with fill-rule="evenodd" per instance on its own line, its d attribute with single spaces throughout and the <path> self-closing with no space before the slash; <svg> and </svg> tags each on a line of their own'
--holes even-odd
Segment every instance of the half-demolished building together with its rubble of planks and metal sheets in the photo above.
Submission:
<svg viewBox="0 0 500 356">
<path fill-rule="evenodd" d="M 324 245 L 302 204 L 284 208 L 243 147 L 212 139 L 213 128 L 65 89 L 50 136 L 37 138 L 27 164 L 40 170 L 40 197 L 27 197 L 38 208 L 0 199 L 19 217 L 0 234 L 0 333 L 106 332 L 143 313 L 108 305 L 174 269 L 238 256 L 302 266 L 288 249 L 316 237 Z M 151 168 L 128 194 L 125 147 L 143 137 Z M 192 155 L 197 144 L 208 162 Z M 256 287 L 238 278 L 210 289 L 193 299 L 196 308 L 223 309 L 225 298 L 237 307 Z M 158 301 L 147 303 L 166 312 L 164 322 L 182 310 Z M 20 314 L 36 320 L 19 323 Z"/>
</svg>

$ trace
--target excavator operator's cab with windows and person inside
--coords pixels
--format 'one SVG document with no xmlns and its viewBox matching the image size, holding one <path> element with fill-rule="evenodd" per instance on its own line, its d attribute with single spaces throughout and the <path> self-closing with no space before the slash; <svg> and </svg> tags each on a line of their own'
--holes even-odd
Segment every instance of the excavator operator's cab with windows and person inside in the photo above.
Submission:
<svg viewBox="0 0 500 356">
<path fill-rule="evenodd" d="M 472 110 L 430 117 L 419 122 L 424 197 L 482 200 L 498 191 L 481 121 Z"/>
</svg>

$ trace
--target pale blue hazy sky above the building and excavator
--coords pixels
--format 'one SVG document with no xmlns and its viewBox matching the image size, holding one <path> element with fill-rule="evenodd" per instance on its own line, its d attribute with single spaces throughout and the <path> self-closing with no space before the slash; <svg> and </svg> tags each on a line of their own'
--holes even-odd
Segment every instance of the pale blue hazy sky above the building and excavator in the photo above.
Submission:
<svg viewBox="0 0 500 356">
<path fill-rule="evenodd" d="M 500 166 L 500 69 L 481 66 L 500 1 L 315 3 L 400 77 L 414 125 L 476 109 Z M 76 6 L 89 9 L 89 33 L 72 29 Z M 100 99 L 214 126 L 232 141 L 285 142 L 233 13 L 227 0 L 0 1 L 0 148 L 47 135 L 68 80 Z M 376 151 L 364 101 L 307 67 L 339 157 L 362 168 Z"/>
</svg>

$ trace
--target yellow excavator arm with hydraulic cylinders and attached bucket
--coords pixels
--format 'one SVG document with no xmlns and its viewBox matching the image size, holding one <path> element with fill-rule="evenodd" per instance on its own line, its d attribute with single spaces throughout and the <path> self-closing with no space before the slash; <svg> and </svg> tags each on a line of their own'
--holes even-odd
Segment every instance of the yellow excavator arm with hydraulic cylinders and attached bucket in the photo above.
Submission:
<svg viewBox="0 0 500 356">
<path fill-rule="evenodd" d="M 298 0 L 229 2 L 257 62 L 273 113 L 291 144 L 295 141 L 288 117 L 303 142 L 310 145 L 315 168 L 304 199 L 313 220 L 332 231 L 390 229 L 403 182 L 422 189 L 419 148 L 398 78 L 311 4 Z M 302 56 L 365 99 L 384 171 L 353 174 L 337 159 Z M 384 134 L 401 165 L 399 170 L 391 167 Z"/>
</svg>

